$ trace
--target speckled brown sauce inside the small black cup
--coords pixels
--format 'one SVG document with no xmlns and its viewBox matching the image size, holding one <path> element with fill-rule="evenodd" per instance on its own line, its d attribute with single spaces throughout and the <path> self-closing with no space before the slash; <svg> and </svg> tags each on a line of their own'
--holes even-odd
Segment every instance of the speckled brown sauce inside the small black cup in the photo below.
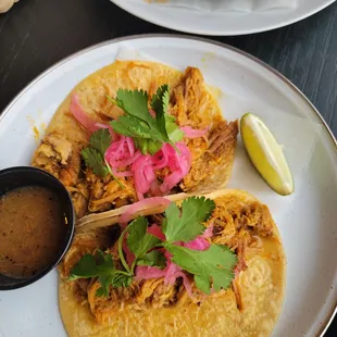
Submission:
<svg viewBox="0 0 337 337">
<path fill-rule="evenodd" d="M 66 234 L 58 196 L 28 186 L 0 196 L 0 274 L 29 277 L 48 266 Z"/>
</svg>

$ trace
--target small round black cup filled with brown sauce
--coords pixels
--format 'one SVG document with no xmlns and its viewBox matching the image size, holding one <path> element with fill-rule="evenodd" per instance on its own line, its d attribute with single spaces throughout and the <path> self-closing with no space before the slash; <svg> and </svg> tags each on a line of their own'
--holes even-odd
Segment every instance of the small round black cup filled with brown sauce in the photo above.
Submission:
<svg viewBox="0 0 337 337">
<path fill-rule="evenodd" d="M 51 174 L 0 171 L 0 290 L 34 283 L 61 261 L 74 234 L 74 208 Z"/>
</svg>

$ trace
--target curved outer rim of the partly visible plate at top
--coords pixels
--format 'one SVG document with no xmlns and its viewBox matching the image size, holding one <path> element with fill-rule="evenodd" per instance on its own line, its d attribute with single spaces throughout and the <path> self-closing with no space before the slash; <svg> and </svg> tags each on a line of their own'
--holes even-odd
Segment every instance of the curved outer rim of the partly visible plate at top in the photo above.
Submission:
<svg viewBox="0 0 337 337">
<path fill-rule="evenodd" d="M 123 0 L 110 0 L 113 4 L 115 4 L 116 7 L 121 8 L 123 11 L 139 17 L 146 22 L 152 23 L 154 25 L 158 25 L 160 27 L 165 27 L 168 29 L 173 29 L 175 32 L 183 32 L 183 33 L 188 33 L 188 34 L 198 34 L 198 35 L 205 35 L 205 36 L 239 36 L 239 35 L 247 35 L 247 34 L 255 34 L 255 33 L 263 33 L 263 32 L 270 32 L 273 29 L 277 29 L 277 28 L 282 28 L 282 27 L 286 27 L 289 26 L 294 23 L 300 22 L 307 17 L 310 17 L 319 12 L 321 12 L 322 10 L 326 9 L 327 7 L 329 7 L 330 4 L 333 4 L 336 0 L 323 0 L 322 4 L 320 4 L 317 8 L 312 9 L 311 11 L 309 11 L 308 13 L 303 13 L 301 15 L 295 16 L 290 20 L 286 20 L 283 22 L 278 22 L 275 24 L 271 24 L 265 28 L 257 28 L 257 29 L 238 29 L 238 30 L 234 30 L 234 32 L 228 32 L 226 29 L 222 29 L 222 30 L 208 30 L 208 29 L 189 29 L 188 27 L 185 28 L 184 25 L 179 25 L 179 27 L 175 27 L 174 25 L 171 24 L 166 24 L 166 23 L 162 23 L 159 20 L 149 20 L 149 17 L 147 15 L 142 15 L 142 14 L 137 14 L 136 11 L 133 11 L 129 9 L 129 7 L 127 4 L 125 4 L 125 2 L 123 2 Z"/>
</svg>

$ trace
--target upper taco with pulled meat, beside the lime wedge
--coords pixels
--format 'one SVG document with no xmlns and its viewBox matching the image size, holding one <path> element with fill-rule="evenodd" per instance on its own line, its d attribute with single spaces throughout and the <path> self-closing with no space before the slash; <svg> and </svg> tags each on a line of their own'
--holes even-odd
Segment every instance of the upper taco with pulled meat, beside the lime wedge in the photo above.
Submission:
<svg viewBox="0 0 337 337">
<path fill-rule="evenodd" d="M 238 123 L 227 123 L 201 72 L 116 61 L 61 103 L 32 164 L 57 176 L 78 217 L 142 198 L 227 183 Z"/>
</svg>

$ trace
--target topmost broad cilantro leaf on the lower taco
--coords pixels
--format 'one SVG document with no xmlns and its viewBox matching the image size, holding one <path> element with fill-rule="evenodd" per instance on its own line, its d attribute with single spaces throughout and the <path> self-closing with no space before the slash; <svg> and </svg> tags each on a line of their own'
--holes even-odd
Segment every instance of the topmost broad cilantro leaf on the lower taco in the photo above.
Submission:
<svg viewBox="0 0 337 337">
<path fill-rule="evenodd" d="M 182 210 L 172 202 L 165 211 L 163 232 L 168 242 L 190 241 L 202 234 L 207 221 L 215 208 L 211 199 L 191 197 L 182 203 Z"/>
</svg>

